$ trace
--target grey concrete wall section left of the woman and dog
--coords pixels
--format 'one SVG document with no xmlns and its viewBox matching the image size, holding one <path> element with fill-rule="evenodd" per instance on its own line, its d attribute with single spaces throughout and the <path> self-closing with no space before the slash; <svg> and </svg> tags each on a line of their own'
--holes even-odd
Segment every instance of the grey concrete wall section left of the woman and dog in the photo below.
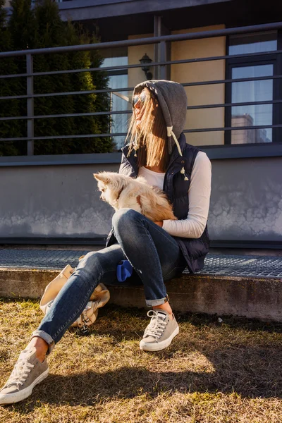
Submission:
<svg viewBox="0 0 282 423">
<path fill-rule="evenodd" d="M 1 237 L 95 237 L 111 228 L 92 173 L 117 165 L 0 168 Z M 5 201 L 3 201 L 5 199 Z"/>
</svg>

